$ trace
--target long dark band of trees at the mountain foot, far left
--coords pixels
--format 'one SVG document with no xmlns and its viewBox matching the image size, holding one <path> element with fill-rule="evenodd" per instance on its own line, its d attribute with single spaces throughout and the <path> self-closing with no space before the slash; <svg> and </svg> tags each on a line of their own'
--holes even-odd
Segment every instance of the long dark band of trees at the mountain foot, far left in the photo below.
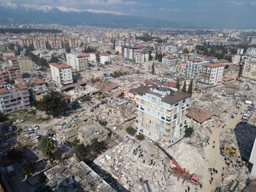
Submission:
<svg viewBox="0 0 256 192">
<path fill-rule="evenodd" d="M 0 28 L 0 33 L 61 33 L 58 29 L 20 29 L 20 28 Z"/>
</svg>

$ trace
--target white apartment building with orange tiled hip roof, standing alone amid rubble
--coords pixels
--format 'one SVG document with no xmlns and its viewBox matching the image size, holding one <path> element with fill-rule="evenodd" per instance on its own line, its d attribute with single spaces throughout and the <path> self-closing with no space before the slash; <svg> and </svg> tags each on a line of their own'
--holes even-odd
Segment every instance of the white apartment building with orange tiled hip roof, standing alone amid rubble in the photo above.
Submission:
<svg viewBox="0 0 256 192">
<path fill-rule="evenodd" d="M 65 86 L 73 83 L 72 66 L 66 63 L 50 63 L 51 79 L 58 84 Z"/>
</svg>

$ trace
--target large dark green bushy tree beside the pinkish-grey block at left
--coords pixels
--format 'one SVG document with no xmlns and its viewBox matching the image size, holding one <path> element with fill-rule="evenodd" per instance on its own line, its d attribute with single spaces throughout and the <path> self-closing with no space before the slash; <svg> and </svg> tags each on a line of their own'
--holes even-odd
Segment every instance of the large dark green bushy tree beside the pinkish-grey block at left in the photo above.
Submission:
<svg viewBox="0 0 256 192">
<path fill-rule="evenodd" d="M 51 91 L 50 94 L 44 96 L 36 106 L 36 109 L 46 112 L 47 115 L 57 115 L 61 112 L 61 98 L 63 98 L 62 95 Z"/>
</svg>

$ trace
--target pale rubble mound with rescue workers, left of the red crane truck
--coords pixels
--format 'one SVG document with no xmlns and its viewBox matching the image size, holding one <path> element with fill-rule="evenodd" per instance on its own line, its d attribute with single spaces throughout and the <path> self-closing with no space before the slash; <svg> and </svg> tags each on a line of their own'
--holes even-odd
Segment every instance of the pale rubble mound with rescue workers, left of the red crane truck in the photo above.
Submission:
<svg viewBox="0 0 256 192">
<path fill-rule="evenodd" d="M 172 165 L 170 159 L 152 143 L 137 142 L 126 140 L 119 143 L 100 155 L 94 163 L 129 191 L 145 191 L 146 188 L 151 191 L 173 191 L 174 182 L 167 180 L 170 175 L 168 168 Z M 146 181 L 147 186 L 141 180 Z M 123 189 L 120 187 L 119 190 Z"/>
</svg>

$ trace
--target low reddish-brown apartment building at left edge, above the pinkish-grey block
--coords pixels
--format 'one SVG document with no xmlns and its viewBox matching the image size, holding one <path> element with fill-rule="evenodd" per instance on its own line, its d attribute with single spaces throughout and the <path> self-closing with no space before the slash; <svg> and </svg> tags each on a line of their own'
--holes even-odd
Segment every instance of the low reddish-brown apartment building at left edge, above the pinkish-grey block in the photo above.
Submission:
<svg viewBox="0 0 256 192">
<path fill-rule="evenodd" d="M 8 67 L 0 69 L 0 83 L 6 83 L 10 80 L 20 79 L 22 73 L 18 67 Z"/>
</svg>

